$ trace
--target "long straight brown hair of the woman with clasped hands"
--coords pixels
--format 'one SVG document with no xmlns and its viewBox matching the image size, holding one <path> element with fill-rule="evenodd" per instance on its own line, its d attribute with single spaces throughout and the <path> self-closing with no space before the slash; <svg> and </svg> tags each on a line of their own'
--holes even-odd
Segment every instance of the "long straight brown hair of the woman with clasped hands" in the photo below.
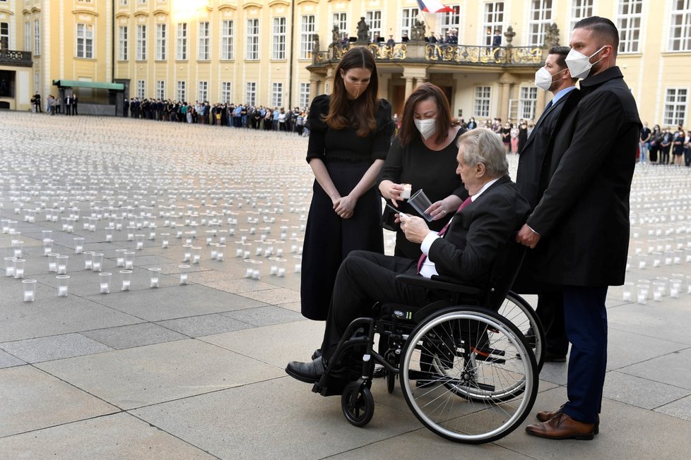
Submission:
<svg viewBox="0 0 691 460">
<path fill-rule="evenodd" d="M 348 120 L 348 92 L 343 83 L 343 73 L 351 68 L 366 68 L 372 73 L 370 84 L 367 85 L 365 92 L 353 102 L 353 119 Z M 374 63 L 372 52 L 365 47 L 353 47 L 343 54 L 341 62 L 338 63 L 333 74 L 333 93 L 329 103 L 329 114 L 324 117 L 324 121 L 329 128 L 343 129 L 350 126 L 355 129 L 355 133 L 361 138 L 366 138 L 377 128 L 377 121 L 374 114 L 377 111 L 379 99 L 379 75 L 377 75 L 377 64 Z"/>
</svg>

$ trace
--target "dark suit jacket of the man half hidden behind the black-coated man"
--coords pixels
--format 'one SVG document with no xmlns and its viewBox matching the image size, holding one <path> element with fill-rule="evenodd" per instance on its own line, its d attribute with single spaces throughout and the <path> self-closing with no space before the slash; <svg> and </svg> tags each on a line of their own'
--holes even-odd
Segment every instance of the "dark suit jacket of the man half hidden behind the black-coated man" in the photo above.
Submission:
<svg viewBox="0 0 691 460">
<path fill-rule="evenodd" d="M 571 90 L 542 114 L 523 150 L 519 152 L 516 186 L 528 200 L 531 208 L 538 204 L 548 183 L 551 143 L 565 116 L 576 108 L 580 100 L 579 90 Z M 541 181 L 541 177 L 543 180 Z"/>
</svg>

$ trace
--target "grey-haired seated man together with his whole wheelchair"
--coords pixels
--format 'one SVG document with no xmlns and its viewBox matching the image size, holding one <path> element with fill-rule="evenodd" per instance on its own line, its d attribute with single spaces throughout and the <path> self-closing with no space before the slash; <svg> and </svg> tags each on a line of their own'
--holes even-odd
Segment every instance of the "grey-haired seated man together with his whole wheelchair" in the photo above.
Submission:
<svg viewBox="0 0 691 460">
<path fill-rule="evenodd" d="M 468 131 L 458 146 L 456 174 L 470 198 L 439 234 L 420 217 L 398 214 L 406 238 L 421 243 L 420 260 L 350 253 L 321 349 L 285 369 L 314 392 L 341 394 L 353 425 L 372 418 L 374 362 L 386 368 L 389 392 L 398 377 L 415 416 L 449 440 L 496 440 L 531 410 L 535 356 L 520 330 L 495 313 L 522 260 L 524 248 L 513 240 L 530 208 L 507 175 L 495 133 Z M 384 356 L 373 349 L 375 333 Z"/>
</svg>

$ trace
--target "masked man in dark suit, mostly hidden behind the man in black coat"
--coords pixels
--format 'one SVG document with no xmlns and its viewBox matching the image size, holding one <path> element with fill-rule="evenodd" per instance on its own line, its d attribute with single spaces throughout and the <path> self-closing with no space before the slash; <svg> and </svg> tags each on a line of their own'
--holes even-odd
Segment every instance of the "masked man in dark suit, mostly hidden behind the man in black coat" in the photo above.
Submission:
<svg viewBox="0 0 691 460">
<path fill-rule="evenodd" d="M 552 47 L 545 66 L 535 74 L 536 86 L 551 92 L 553 99 L 520 152 L 516 185 L 531 209 L 538 204 L 548 185 L 553 137 L 579 100 L 576 79 L 571 76 L 565 61 L 570 50 L 569 47 Z M 518 293 L 538 293 L 536 313 L 545 328 L 544 360 L 562 363 L 566 361 L 569 351 L 569 340 L 564 329 L 562 290 L 560 286 L 540 284 L 531 279 L 531 274 L 536 271 L 534 265 L 541 263 L 541 250 L 542 247 L 538 246 L 528 252 L 513 290 Z"/>
</svg>

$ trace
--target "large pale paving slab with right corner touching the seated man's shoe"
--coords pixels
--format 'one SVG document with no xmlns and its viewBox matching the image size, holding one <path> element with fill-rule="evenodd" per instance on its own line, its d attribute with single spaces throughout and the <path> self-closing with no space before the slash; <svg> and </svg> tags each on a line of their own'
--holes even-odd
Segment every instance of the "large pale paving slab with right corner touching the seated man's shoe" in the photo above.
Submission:
<svg viewBox="0 0 691 460">
<path fill-rule="evenodd" d="M 283 369 L 194 339 L 36 366 L 125 409 L 285 375 Z"/>
</svg>

